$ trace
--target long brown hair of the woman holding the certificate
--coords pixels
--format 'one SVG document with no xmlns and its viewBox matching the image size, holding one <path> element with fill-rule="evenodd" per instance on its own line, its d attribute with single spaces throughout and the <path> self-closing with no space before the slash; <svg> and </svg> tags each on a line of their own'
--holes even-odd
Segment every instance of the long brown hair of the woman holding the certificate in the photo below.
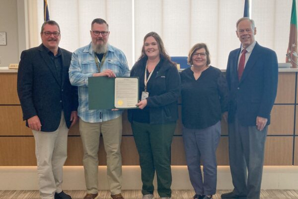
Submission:
<svg viewBox="0 0 298 199">
<path fill-rule="evenodd" d="M 168 60 L 168 61 L 171 62 L 171 58 L 167 54 L 166 50 L 164 49 L 163 42 L 162 42 L 160 36 L 156 32 L 149 32 L 147 35 L 145 35 L 144 42 L 143 42 L 143 47 L 142 47 L 142 53 L 141 53 L 141 56 L 139 57 L 138 60 L 141 60 L 143 58 L 148 58 L 147 55 L 146 55 L 146 53 L 145 53 L 145 41 L 150 36 L 152 36 L 156 40 L 156 42 L 157 42 L 158 49 L 159 49 L 159 56 L 161 58 L 163 58 L 163 59 Z"/>
</svg>

